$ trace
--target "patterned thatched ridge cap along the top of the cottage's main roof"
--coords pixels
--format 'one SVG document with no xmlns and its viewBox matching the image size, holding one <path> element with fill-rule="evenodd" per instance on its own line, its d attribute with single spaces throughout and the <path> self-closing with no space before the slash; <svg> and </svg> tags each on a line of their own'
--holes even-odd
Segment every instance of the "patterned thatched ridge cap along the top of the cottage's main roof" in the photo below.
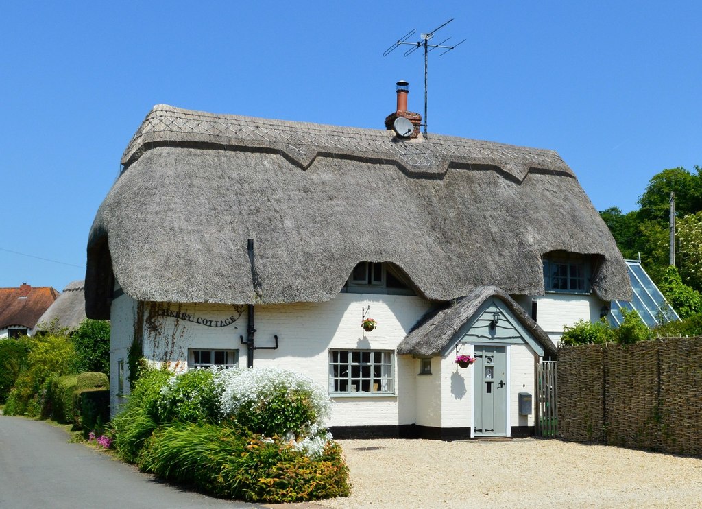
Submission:
<svg viewBox="0 0 702 509">
<path fill-rule="evenodd" d="M 156 105 L 147 114 L 124 151 L 128 167 L 155 146 L 231 147 L 268 150 L 282 154 L 307 169 L 319 156 L 351 157 L 396 164 L 416 176 L 445 175 L 449 168 L 472 164 L 500 168 L 522 181 L 529 168 L 559 171 L 574 176 L 556 152 L 445 135 L 425 140 L 397 140 L 392 131 L 307 122 L 222 115 Z"/>
</svg>

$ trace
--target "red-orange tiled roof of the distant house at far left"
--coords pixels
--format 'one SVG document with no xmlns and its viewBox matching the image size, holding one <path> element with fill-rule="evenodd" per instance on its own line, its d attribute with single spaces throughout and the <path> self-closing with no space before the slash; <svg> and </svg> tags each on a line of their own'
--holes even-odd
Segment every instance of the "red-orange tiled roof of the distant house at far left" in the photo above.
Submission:
<svg viewBox="0 0 702 509">
<path fill-rule="evenodd" d="M 22 325 L 34 329 L 37 320 L 59 296 L 51 286 L 0 288 L 0 329 Z"/>
</svg>

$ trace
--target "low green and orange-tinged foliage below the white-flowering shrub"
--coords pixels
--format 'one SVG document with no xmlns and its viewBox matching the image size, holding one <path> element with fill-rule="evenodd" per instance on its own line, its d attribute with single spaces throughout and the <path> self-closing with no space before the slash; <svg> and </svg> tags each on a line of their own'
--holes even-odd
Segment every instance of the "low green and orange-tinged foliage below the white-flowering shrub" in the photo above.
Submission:
<svg viewBox="0 0 702 509">
<path fill-rule="evenodd" d="M 288 444 L 208 423 L 176 423 L 155 432 L 139 465 L 168 480 L 252 502 L 348 496 L 351 488 L 338 444 L 327 444 L 312 459 Z"/>
</svg>

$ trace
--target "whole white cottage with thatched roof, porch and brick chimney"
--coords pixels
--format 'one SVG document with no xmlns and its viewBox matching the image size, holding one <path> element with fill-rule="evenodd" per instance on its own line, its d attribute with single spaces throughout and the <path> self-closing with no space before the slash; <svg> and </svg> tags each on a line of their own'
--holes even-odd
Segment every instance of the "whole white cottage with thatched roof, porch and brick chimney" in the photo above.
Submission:
<svg viewBox="0 0 702 509">
<path fill-rule="evenodd" d="M 422 135 L 398 88 L 384 131 L 154 107 L 88 239 L 113 413 L 136 348 L 302 371 L 337 437 L 533 431 L 519 392 L 626 265 L 558 154 Z"/>
</svg>

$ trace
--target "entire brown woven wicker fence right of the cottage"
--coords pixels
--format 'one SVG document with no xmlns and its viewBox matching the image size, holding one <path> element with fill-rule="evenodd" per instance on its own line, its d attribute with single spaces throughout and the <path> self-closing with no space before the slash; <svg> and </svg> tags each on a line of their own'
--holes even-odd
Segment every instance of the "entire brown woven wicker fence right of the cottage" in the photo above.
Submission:
<svg viewBox="0 0 702 509">
<path fill-rule="evenodd" d="M 702 456 L 702 338 L 558 352 L 558 434 Z"/>
</svg>

